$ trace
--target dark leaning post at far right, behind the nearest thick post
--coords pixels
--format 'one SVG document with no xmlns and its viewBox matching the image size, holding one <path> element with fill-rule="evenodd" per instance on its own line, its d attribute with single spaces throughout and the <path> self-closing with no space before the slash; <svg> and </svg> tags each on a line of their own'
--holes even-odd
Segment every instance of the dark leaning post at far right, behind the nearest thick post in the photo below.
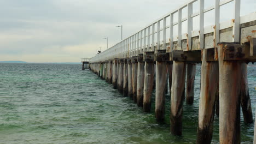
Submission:
<svg viewBox="0 0 256 144">
<path fill-rule="evenodd" d="M 251 99 L 249 95 L 247 65 L 241 63 L 241 107 L 243 112 L 243 121 L 245 123 L 253 123 Z"/>
</svg>

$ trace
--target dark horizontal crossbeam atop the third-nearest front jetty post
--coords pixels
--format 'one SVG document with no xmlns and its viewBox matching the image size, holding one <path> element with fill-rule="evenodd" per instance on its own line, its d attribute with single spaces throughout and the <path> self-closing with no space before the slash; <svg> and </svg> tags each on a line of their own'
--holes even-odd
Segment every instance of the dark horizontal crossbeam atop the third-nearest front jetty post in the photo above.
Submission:
<svg viewBox="0 0 256 144">
<path fill-rule="evenodd" d="M 186 61 L 186 62 L 201 62 L 201 50 L 196 51 L 180 51 L 174 50 L 170 52 L 170 61 Z"/>
</svg>

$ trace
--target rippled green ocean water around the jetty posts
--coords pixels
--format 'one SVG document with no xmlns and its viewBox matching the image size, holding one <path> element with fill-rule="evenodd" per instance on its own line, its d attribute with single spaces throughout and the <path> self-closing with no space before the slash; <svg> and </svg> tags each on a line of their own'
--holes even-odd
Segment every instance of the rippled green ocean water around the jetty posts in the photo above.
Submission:
<svg viewBox="0 0 256 144">
<path fill-rule="evenodd" d="M 195 103 L 183 109 L 183 136 L 170 134 L 170 94 L 166 123 L 124 98 L 80 64 L 0 63 L 0 143 L 195 143 L 199 109 L 200 67 Z M 253 116 L 256 67 L 248 67 Z M 212 143 L 218 143 L 218 117 Z M 241 143 L 253 142 L 254 124 L 244 124 Z"/>
</svg>

